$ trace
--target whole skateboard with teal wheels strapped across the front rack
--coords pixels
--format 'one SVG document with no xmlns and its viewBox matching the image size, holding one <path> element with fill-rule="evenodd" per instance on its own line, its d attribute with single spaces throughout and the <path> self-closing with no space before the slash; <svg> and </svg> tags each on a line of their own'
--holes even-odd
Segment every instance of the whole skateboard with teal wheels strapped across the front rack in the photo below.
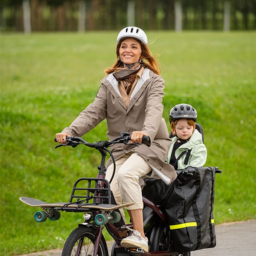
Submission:
<svg viewBox="0 0 256 256">
<path fill-rule="evenodd" d="M 56 221 L 61 217 L 61 211 L 67 212 L 86 212 L 98 210 L 107 213 L 100 213 L 95 216 L 95 222 L 98 225 L 106 224 L 108 221 L 116 223 L 120 220 L 119 212 L 113 212 L 116 209 L 128 207 L 133 203 L 128 204 L 83 204 L 82 202 L 56 202 L 47 203 L 36 198 L 21 197 L 20 201 L 32 207 L 41 207 L 44 211 L 35 212 L 34 218 L 37 222 L 46 221 L 47 218 L 51 221 Z M 109 214 L 111 212 L 111 214 Z"/>
</svg>

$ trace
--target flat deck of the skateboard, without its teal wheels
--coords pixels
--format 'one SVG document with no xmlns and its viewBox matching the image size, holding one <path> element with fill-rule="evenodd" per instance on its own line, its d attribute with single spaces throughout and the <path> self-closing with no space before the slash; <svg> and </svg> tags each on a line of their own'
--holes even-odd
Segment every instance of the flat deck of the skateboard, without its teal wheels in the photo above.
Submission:
<svg viewBox="0 0 256 256">
<path fill-rule="evenodd" d="M 76 204 L 76 202 L 73 202 L 72 204 L 70 202 L 57 202 L 57 203 L 47 203 L 35 198 L 29 198 L 29 197 L 21 197 L 20 201 L 24 204 L 27 204 L 32 207 L 44 207 L 44 208 L 54 208 L 54 207 L 64 207 L 64 208 L 82 208 L 82 209 L 99 209 L 99 210 L 105 210 L 105 211 L 112 211 L 115 209 L 128 207 L 132 205 L 133 203 L 128 204 L 121 204 L 121 205 L 115 205 L 115 204 Z"/>
</svg>

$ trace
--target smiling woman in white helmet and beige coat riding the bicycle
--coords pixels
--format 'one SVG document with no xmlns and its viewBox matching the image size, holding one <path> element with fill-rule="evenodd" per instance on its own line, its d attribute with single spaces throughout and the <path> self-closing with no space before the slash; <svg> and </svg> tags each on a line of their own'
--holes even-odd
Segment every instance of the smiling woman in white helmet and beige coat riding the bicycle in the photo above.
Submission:
<svg viewBox="0 0 256 256">
<path fill-rule="evenodd" d="M 116 62 L 105 70 L 93 103 L 87 106 L 73 123 L 56 134 L 59 143 L 66 136 L 82 136 L 103 119 L 107 119 L 108 138 L 120 131 L 131 133 L 132 143 L 141 143 L 148 135 L 151 146 L 143 144 L 113 145 L 116 173 L 111 190 L 117 204 L 133 203 L 127 207 L 133 222 L 133 233 L 121 241 L 122 247 L 140 247 L 148 252 L 148 239 L 143 231 L 143 177 L 162 178 L 170 184 L 176 177 L 174 168 L 165 163 L 171 140 L 163 114 L 164 81 L 160 67 L 148 49 L 145 32 L 126 27 L 117 36 Z M 113 163 L 107 162 L 106 179 L 110 180 Z"/>
</svg>

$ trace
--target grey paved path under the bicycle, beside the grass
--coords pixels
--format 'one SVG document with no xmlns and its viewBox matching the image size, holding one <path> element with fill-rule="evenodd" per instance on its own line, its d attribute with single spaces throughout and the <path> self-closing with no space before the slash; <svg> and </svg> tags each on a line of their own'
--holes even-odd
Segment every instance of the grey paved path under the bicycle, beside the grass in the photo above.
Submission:
<svg viewBox="0 0 256 256">
<path fill-rule="evenodd" d="M 256 219 L 216 225 L 217 245 L 197 250 L 191 256 L 256 256 Z M 109 252 L 113 241 L 108 242 Z M 49 250 L 23 256 L 61 256 L 61 250 Z"/>
</svg>

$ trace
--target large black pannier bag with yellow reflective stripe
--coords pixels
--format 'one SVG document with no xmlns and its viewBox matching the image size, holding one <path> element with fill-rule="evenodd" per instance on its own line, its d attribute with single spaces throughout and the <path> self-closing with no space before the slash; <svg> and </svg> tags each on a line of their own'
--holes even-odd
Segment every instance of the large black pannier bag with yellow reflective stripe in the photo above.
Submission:
<svg viewBox="0 0 256 256">
<path fill-rule="evenodd" d="M 143 196 L 166 211 L 172 250 L 182 253 L 215 247 L 212 210 L 216 171 L 217 167 L 189 166 L 177 170 L 170 186 L 163 180 L 145 180 Z"/>
</svg>

